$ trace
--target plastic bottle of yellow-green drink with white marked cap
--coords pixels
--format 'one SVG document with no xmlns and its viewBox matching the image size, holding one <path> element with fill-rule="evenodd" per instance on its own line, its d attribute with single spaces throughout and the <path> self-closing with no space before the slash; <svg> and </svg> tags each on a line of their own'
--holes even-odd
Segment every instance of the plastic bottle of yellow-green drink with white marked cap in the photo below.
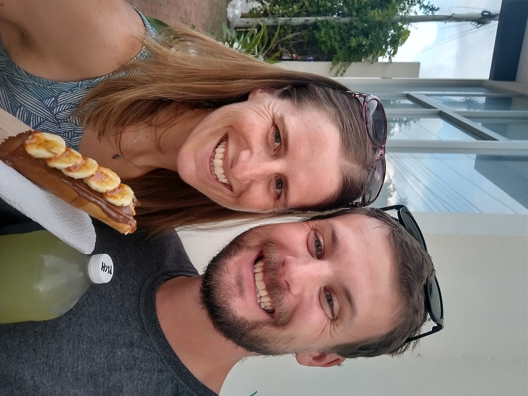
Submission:
<svg viewBox="0 0 528 396">
<path fill-rule="evenodd" d="M 113 273 L 108 254 L 82 254 L 48 231 L 0 235 L 0 323 L 61 316 Z"/>
</svg>

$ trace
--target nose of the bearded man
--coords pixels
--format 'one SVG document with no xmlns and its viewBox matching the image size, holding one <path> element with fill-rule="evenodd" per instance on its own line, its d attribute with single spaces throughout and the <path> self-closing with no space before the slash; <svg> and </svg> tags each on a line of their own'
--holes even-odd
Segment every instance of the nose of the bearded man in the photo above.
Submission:
<svg viewBox="0 0 528 396">
<path fill-rule="evenodd" d="M 318 289 L 331 275 L 330 268 L 323 260 L 312 257 L 284 257 L 284 266 L 280 269 L 282 281 L 293 296 L 303 295 L 307 291 Z"/>
</svg>

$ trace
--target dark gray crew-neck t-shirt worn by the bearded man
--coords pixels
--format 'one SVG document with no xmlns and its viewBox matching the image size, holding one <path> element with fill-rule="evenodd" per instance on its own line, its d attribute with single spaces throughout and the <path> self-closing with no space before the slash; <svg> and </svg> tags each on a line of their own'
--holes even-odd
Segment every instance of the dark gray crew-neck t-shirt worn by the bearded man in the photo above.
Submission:
<svg viewBox="0 0 528 396">
<path fill-rule="evenodd" d="M 215 395 L 178 359 L 156 316 L 164 280 L 198 275 L 178 235 L 148 239 L 94 225 L 93 254 L 110 254 L 112 280 L 90 286 L 58 318 L 0 325 L 0 395 Z M 0 233 L 34 229 L 29 222 Z"/>
</svg>

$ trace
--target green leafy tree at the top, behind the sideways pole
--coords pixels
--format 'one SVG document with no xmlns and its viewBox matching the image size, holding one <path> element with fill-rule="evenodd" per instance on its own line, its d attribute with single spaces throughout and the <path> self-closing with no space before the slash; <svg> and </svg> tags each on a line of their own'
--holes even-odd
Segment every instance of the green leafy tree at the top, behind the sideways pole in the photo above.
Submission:
<svg viewBox="0 0 528 396">
<path fill-rule="evenodd" d="M 280 26 L 280 34 L 298 33 L 290 39 L 283 59 L 332 61 L 337 74 L 343 74 L 351 62 L 376 61 L 380 56 L 392 60 L 409 37 L 408 24 L 394 23 L 396 15 L 434 14 L 439 8 L 425 0 L 260 0 L 251 17 L 265 16 L 341 16 L 352 22 L 317 21 L 314 25 Z M 270 34 L 274 34 L 271 26 Z M 283 41 L 284 44 L 284 41 Z M 289 52 L 289 53 L 288 53 Z"/>
</svg>

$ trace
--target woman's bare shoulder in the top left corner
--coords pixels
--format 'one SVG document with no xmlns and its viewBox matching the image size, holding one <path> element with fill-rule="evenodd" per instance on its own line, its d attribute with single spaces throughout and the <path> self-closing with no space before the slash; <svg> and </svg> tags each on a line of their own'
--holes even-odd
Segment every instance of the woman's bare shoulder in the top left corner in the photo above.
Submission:
<svg viewBox="0 0 528 396">
<path fill-rule="evenodd" d="M 125 0 L 0 0 L 0 40 L 22 69 L 42 78 L 104 76 L 140 51 L 145 27 Z"/>
</svg>

